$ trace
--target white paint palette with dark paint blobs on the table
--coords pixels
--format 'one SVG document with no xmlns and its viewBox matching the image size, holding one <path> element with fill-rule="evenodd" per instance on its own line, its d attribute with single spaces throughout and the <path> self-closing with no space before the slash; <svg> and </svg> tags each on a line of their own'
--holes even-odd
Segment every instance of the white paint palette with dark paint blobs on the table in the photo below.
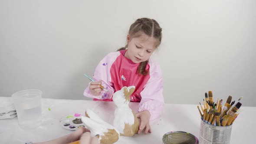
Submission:
<svg viewBox="0 0 256 144">
<path fill-rule="evenodd" d="M 59 120 L 59 124 L 62 128 L 68 130 L 77 130 L 80 127 L 85 127 L 85 124 L 81 120 L 82 116 L 85 116 L 85 114 L 75 113 L 74 115 L 67 115 L 65 118 Z"/>
</svg>

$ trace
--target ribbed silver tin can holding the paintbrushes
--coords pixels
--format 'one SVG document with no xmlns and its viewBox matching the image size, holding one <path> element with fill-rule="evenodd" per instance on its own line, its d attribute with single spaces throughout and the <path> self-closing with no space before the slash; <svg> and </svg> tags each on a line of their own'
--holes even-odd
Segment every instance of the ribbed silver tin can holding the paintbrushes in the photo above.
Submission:
<svg viewBox="0 0 256 144">
<path fill-rule="evenodd" d="M 201 119 L 200 144 L 230 144 L 232 125 L 214 126 Z"/>
</svg>

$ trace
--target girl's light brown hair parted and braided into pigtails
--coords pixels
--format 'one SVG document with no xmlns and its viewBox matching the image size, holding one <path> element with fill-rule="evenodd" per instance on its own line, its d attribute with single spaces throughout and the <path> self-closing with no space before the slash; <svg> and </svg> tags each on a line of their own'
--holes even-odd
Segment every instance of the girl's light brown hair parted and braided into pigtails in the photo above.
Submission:
<svg viewBox="0 0 256 144">
<path fill-rule="evenodd" d="M 140 18 L 131 24 L 129 32 L 128 32 L 128 34 L 131 38 L 139 37 L 139 36 L 141 36 L 142 33 L 144 33 L 150 37 L 152 36 L 157 40 L 156 45 L 155 45 L 156 48 L 160 45 L 161 40 L 162 40 L 162 29 L 156 20 L 149 19 L 149 18 Z M 123 50 L 127 47 L 128 47 L 128 45 L 118 49 L 117 51 Z M 140 63 L 140 65 L 137 69 L 137 72 L 139 74 L 148 75 L 148 71 L 145 70 L 147 63 L 148 63 L 148 61 Z"/>
</svg>

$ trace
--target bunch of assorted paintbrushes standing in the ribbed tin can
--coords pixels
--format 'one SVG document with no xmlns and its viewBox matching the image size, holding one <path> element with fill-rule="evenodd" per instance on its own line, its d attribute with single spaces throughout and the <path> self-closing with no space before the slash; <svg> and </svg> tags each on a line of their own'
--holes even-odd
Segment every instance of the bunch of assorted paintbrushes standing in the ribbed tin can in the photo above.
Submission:
<svg viewBox="0 0 256 144">
<path fill-rule="evenodd" d="M 208 97 L 209 96 L 209 97 Z M 238 101 L 233 101 L 232 96 L 229 96 L 226 100 L 225 105 L 222 105 L 223 100 L 217 99 L 217 102 L 213 101 L 213 93 L 209 91 L 205 93 L 205 101 L 203 99 L 203 107 L 200 103 L 200 108 L 203 111 L 201 112 L 199 106 L 197 106 L 200 113 L 200 117 L 208 124 L 217 125 L 217 126 L 226 126 L 233 124 L 237 116 L 241 112 L 241 103 L 240 100 L 243 97 L 240 97 Z M 231 102 L 231 104 L 230 104 Z"/>
</svg>

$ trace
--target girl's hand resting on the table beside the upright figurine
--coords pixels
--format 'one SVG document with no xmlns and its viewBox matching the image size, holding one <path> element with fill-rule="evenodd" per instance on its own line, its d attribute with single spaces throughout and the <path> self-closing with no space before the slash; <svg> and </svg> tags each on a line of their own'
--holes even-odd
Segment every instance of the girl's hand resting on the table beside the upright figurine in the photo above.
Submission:
<svg viewBox="0 0 256 144">
<path fill-rule="evenodd" d="M 144 129 L 145 129 L 145 134 L 151 133 L 151 128 L 149 125 L 149 118 L 150 118 L 150 113 L 148 110 L 141 111 L 136 113 L 136 117 L 141 120 L 140 125 L 139 125 L 139 130 L 138 134 L 140 134 Z"/>
</svg>

